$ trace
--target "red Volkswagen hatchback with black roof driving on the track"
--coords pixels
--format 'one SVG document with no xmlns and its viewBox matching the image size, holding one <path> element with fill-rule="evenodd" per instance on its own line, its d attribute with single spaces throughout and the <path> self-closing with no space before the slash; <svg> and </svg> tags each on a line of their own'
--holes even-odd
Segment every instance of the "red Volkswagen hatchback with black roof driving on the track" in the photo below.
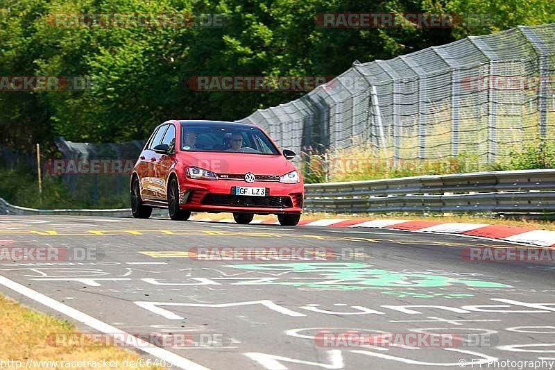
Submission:
<svg viewBox="0 0 555 370">
<path fill-rule="evenodd" d="M 191 212 L 232 212 L 238 224 L 278 215 L 298 224 L 302 176 L 262 129 L 223 121 L 167 121 L 155 128 L 131 176 L 133 217 L 168 208 L 175 220 Z"/>
</svg>

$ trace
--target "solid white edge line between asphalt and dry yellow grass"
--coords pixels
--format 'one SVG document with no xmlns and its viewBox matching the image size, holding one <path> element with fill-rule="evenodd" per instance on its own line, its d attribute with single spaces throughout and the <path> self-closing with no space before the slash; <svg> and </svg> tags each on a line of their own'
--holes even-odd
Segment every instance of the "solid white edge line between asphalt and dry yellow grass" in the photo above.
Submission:
<svg viewBox="0 0 555 370">
<path fill-rule="evenodd" d="M 175 367 L 184 370 L 209 370 L 207 367 L 203 367 L 199 364 L 196 364 L 195 362 L 192 362 L 191 360 L 182 358 L 181 356 L 176 355 L 175 353 L 171 353 L 164 348 L 153 346 L 153 344 L 145 342 L 144 340 L 137 337 L 133 337 L 123 330 L 119 330 L 114 326 L 108 325 L 108 323 L 100 321 L 99 319 L 95 319 L 94 317 L 80 312 L 75 308 L 71 308 L 64 303 L 58 302 L 55 299 L 50 298 L 49 296 L 45 296 L 44 294 L 35 292 L 33 289 L 29 289 L 28 287 L 24 287 L 19 283 L 15 283 L 15 281 L 12 281 L 4 276 L 0 276 L 0 285 L 12 289 L 14 292 L 22 294 L 27 298 L 31 298 L 33 299 L 33 301 L 42 303 L 43 305 L 46 305 L 53 310 L 65 314 L 66 316 L 71 317 L 71 319 L 79 321 L 80 323 L 84 323 L 86 326 L 90 326 L 93 329 L 99 330 L 99 332 L 101 333 L 108 335 L 123 335 L 124 338 L 126 338 L 126 344 L 137 348 L 139 351 L 143 351 L 157 358 L 160 358 L 160 360 L 165 360 L 173 364 L 173 366 Z"/>
</svg>

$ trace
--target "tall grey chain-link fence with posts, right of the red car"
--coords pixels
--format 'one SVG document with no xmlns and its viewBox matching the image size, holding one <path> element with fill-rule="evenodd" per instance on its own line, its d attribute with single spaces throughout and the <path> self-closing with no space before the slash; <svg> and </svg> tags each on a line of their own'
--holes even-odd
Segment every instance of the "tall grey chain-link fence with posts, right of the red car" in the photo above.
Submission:
<svg viewBox="0 0 555 370">
<path fill-rule="evenodd" d="M 282 148 L 370 146 L 394 161 L 472 155 L 481 165 L 555 140 L 555 24 L 468 37 L 347 72 L 239 121 Z"/>
</svg>

